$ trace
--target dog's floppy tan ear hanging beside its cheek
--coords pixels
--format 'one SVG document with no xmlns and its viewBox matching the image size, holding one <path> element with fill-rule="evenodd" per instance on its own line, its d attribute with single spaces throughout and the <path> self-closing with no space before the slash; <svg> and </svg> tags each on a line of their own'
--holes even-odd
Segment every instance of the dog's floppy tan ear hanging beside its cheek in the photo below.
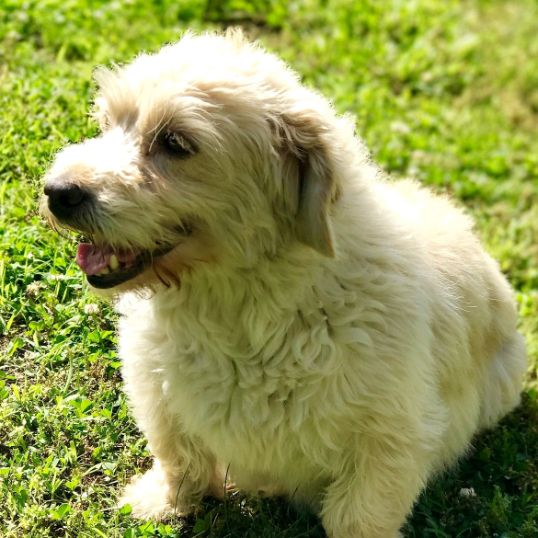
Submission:
<svg viewBox="0 0 538 538">
<path fill-rule="evenodd" d="M 330 207 L 337 195 L 334 167 L 324 142 L 326 128 L 308 113 L 286 114 L 280 124 L 281 144 L 286 158 L 295 159 L 297 177 L 285 177 L 285 189 L 295 204 L 297 239 L 325 256 L 334 256 L 329 220 Z M 296 190 L 296 192 L 291 192 Z"/>
</svg>

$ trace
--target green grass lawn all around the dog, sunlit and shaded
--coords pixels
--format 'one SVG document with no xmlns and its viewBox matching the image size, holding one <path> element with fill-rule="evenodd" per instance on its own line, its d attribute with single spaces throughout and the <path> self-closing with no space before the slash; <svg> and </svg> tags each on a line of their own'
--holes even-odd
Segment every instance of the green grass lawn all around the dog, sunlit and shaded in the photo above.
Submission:
<svg viewBox="0 0 538 538">
<path fill-rule="evenodd" d="M 517 290 L 521 408 L 432 482 L 409 537 L 538 536 L 538 5 L 535 0 L 3 0 L 0 3 L 0 535 L 323 536 L 286 503 L 231 495 L 187 521 L 115 508 L 148 466 L 121 392 L 114 314 L 37 216 L 55 150 L 96 131 L 96 64 L 187 27 L 245 24 L 356 115 L 374 159 L 468 207 Z M 460 494 L 473 488 L 474 496 Z"/>
</svg>

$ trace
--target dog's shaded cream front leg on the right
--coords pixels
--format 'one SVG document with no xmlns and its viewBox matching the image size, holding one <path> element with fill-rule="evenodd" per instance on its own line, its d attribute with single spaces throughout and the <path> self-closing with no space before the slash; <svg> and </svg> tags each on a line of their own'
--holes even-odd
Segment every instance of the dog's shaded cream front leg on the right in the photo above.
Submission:
<svg viewBox="0 0 538 538">
<path fill-rule="evenodd" d="M 394 440 L 393 440 L 394 441 Z M 401 447 L 401 445 L 400 445 Z M 358 443 L 329 485 L 321 517 L 330 538 L 396 538 L 423 486 L 425 468 L 398 445 Z"/>
</svg>

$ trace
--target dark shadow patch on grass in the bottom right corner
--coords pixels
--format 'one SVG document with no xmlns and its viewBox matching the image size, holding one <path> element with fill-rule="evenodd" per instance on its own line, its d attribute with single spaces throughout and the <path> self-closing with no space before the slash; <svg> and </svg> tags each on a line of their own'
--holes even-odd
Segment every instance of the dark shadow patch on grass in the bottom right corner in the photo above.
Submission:
<svg viewBox="0 0 538 538">
<path fill-rule="evenodd" d="M 404 530 L 412 538 L 538 536 L 536 392 L 524 394 L 516 411 L 474 440 L 467 458 L 429 485 Z"/>
</svg>

